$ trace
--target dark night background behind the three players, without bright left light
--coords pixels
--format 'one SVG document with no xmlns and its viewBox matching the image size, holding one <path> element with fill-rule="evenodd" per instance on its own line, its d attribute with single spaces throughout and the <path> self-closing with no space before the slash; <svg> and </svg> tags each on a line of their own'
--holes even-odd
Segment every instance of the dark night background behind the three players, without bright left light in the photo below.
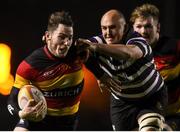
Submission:
<svg viewBox="0 0 180 132">
<path fill-rule="evenodd" d="M 41 38 L 51 12 L 65 9 L 75 22 L 75 38 L 100 33 L 100 18 L 109 9 L 122 11 L 129 19 L 131 11 L 143 3 L 155 4 L 161 13 L 161 32 L 180 38 L 179 0 L 5 0 L 0 4 L 0 43 L 11 47 L 11 73 L 34 49 Z M 109 94 L 101 94 L 91 73 L 83 91 L 78 130 L 112 130 L 109 119 Z M 8 96 L 0 94 L 0 130 L 12 130 L 16 120 L 6 109 Z"/>
</svg>

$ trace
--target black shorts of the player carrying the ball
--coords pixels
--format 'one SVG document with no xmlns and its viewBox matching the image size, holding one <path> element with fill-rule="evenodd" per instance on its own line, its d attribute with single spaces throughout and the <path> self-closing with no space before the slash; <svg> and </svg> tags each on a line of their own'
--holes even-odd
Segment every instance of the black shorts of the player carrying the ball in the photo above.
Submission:
<svg viewBox="0 0 180 132">
<path fill-rule="evenodd" d="M 74 131 L 78 124 L 77 116 L 77 114 L 61 117 L 46 116 L 40 122 L 20 119 L 16 127 L 23 127 L 30 131 Z"/>
</svg>

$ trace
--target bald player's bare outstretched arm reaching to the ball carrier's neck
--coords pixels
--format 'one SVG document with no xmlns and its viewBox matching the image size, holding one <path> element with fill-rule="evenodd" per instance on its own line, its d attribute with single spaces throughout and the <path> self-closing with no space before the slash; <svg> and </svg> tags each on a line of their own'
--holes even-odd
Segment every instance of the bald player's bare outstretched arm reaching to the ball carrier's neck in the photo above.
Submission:
<svg viewBox="0 0 180 132">
<path fill-rule="evenodd" d="M 111 56 L 116 59 L 139 59 L 143 56 L 141 49 L 136 45 L 124 44 L 97 44 L 86 39 L 78 39 L 76 46 L 80 50 L 88 48 L 90 51 Z"/>
</svg>

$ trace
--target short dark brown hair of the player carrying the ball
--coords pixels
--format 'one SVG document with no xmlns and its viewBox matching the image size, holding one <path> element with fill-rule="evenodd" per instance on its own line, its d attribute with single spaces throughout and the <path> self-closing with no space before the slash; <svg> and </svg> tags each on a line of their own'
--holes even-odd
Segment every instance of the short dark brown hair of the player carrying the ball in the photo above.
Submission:
<svg viewBox="0 0 180 132">
<path fill-rule="evenodd" d="M 73 26 L 73 21 L 71 16 L 69 15 L 69 12 L 57 11 L 52 13 L 48 20 L 47 30 L 53 31 L 58 27 L 59 24 L 64 24 L 70 27 Z"/>
</svg>

